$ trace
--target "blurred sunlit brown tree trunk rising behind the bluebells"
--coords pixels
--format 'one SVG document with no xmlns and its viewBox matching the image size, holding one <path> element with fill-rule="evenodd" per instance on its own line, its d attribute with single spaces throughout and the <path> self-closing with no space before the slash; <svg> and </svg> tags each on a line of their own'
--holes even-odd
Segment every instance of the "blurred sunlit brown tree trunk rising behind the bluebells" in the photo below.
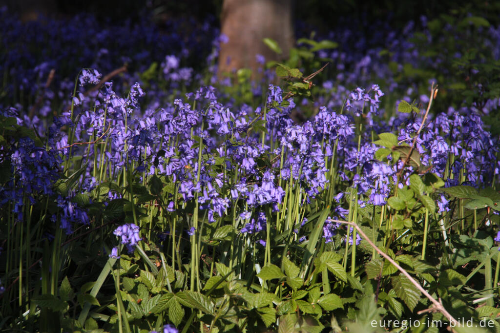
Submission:
<svg viewBox="0 0 500 333">
<path fill-rule="evenodd" d="M 224 0 L 221 26 L 229 41 L 220 45 L 219 76 L 239 68 L 257 68 L 256 54 L 266 61 L 285 58 L 294 42 L 291 0 Z M 278 43 L 281 54 L 262 42 L 266 37 Z"/>
</svg>

